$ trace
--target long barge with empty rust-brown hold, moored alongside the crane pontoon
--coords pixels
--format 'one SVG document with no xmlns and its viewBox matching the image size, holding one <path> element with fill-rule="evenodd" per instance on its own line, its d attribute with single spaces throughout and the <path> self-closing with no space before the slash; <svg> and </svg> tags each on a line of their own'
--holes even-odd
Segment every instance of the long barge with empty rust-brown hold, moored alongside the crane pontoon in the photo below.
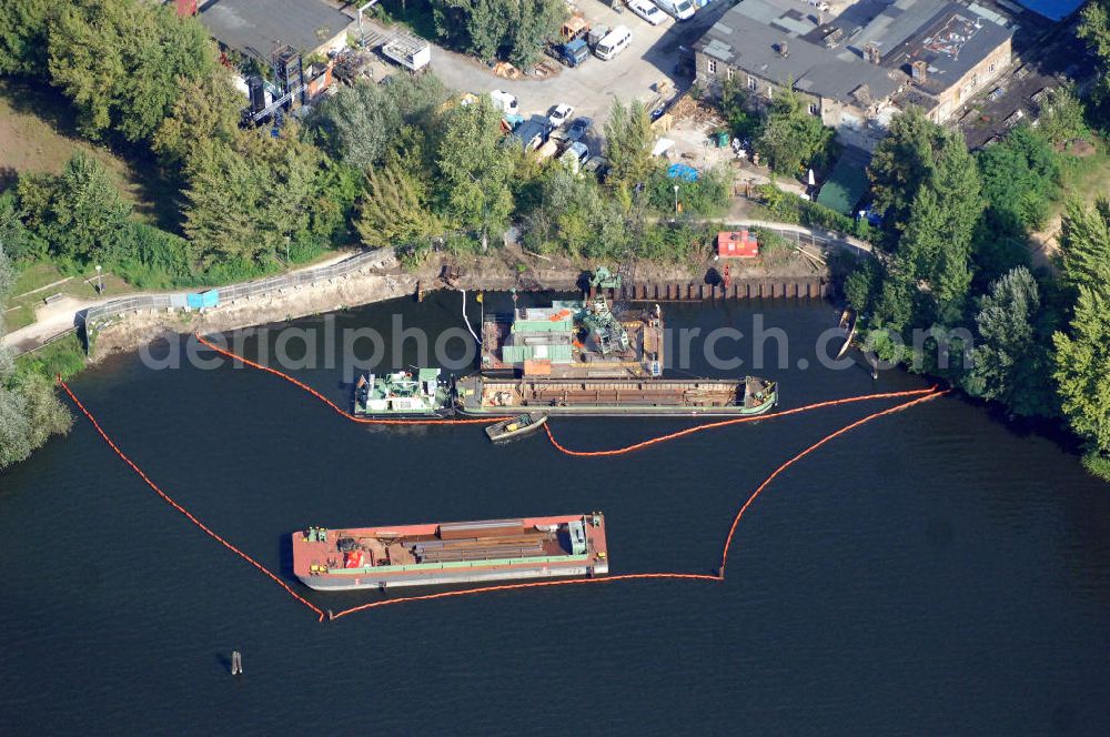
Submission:
<svg viewBox="0 0 1110 737">
<path fill-rule="evenodd" d="M 548 415 L 737 416 L 759 415 L 778 404 L 778 385 L 755 376 L 716 378 L 491 378 L 455 382 L 456 407 L 467 415 L 525 411 Z"/>
</svg>

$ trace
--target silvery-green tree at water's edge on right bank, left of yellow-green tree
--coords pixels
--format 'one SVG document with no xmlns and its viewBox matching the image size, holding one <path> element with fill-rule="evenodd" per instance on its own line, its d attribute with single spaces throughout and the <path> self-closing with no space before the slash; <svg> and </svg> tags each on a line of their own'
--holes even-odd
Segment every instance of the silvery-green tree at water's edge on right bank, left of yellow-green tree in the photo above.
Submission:
<svg viewBox="0 0 1110 737">
<path fill-rule="evenodd" d="M 1051 366 L 1039 320 L 1040 291 L 1029 270 L 1015 269 L 995 282 L 975 320 L 977 339 L 963 376 L 969 394 L 1018 415 L 1051 413 Z"/>
</svg>

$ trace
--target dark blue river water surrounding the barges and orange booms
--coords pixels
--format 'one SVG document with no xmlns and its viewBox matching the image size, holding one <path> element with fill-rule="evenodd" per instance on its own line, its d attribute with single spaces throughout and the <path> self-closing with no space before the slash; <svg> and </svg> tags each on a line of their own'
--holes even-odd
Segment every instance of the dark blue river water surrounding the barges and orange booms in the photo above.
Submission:
<svg viewBox="0 0 1110 737">
<path fill-rule="evenodd" d="M 334 325 L 385 329 L 400 313 L 434 335 L 458 306 L 397 302 Z M 745 333 L 756 313 L 790 336 L 789 367 L 764 372 L 781 408 L 925 385 L 799 370 L 836 320 L 818 302 L 666 310 L 672 327 Z M 687 370 L 712 373 L 693 354 Z M 339 366 L 295 373 L 345 401 Z M 544 437 L 493 447 L 476 426 L 360 426 L 229 365 L 153 371 L 129 355 L 72 386 L 155 482 L 291 582 L 283 541 L 305 525 L 593 509 L 614 573 L 710 573 L 759 481 L 894 404 L 578 460 Z M 586 450 L 689 423 L 552 424 Z M 724 584 L 559 586 L 319 624 L 83 418 L 0 479 L 0 541 L 3 735 L 1110 734 L 1110 487 L 1053 438 L 959 398 L 877 420 L 787 471 L 741 522 Z M 337 610 L 379 596 L 311 598 Z"/>
</svg>

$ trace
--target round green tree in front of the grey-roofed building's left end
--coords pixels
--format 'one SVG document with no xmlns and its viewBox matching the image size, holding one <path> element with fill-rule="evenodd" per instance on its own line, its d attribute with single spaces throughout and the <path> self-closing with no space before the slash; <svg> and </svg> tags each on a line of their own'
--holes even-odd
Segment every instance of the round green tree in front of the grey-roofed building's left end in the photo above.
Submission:
<svg viewBox="0 0 1110 737">
<path fill-rule="evenodd" d="M 801 98 L 787 87 L 771 100 L 755 148 L 775 172 L 797 176 L 803 165 L 827 159 L 834 135 L 833 129 L 809 114 Z"/>
</svg>

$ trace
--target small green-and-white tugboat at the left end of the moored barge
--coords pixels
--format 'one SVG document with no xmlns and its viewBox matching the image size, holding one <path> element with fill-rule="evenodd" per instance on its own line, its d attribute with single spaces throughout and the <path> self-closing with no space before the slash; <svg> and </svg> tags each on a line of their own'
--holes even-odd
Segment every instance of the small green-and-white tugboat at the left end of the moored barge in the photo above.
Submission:
<svg viewBox="0 0 1110 737">
<path fill-rule="evenodd" d="M 414 376 L 398 371 L 382 376 L 364 374 L 354 387 L 359 417 L 421 418 L 453 414 L 451 391 L 438 368 L 420 368 Z"/>
</svg>

